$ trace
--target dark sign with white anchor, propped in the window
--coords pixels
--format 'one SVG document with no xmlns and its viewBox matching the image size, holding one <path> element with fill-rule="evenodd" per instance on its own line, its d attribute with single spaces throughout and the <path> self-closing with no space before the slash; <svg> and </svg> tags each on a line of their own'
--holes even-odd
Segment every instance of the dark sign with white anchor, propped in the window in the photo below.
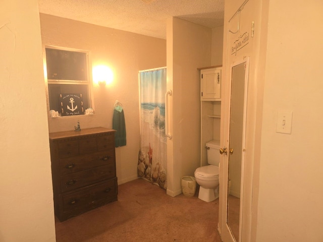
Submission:
<svg viewBox="0 0 323 242">
<path fill-rule="evenodd" d="M 82 93 L 61 93 L 59 100 L 62 116 L 84 114 Z"/>
</svg>

